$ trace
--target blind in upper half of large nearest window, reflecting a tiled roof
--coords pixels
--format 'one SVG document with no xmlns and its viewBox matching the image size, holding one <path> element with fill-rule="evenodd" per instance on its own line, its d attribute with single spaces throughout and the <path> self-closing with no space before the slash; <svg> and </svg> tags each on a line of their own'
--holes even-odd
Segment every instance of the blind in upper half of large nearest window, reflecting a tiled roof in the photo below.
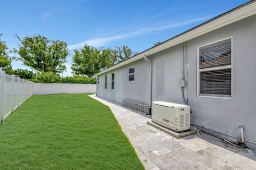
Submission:
<svg viewBox="0 0 256 170">
<path fill-rule="evenodd" d="M 231 65 L 231 39 L 199 48 L 199 69 Z"/>
</svg>

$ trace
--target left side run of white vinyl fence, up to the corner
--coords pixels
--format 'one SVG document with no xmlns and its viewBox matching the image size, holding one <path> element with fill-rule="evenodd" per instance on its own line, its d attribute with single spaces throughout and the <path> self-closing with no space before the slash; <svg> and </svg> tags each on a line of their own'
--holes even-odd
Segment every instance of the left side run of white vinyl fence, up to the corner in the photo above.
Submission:
<svg viewBox="0 0 256 170">
<path fill-rule="evenodd" d="M 0 71 L 0 123 L 32 95 L 32 82 Z"/>
</svg>

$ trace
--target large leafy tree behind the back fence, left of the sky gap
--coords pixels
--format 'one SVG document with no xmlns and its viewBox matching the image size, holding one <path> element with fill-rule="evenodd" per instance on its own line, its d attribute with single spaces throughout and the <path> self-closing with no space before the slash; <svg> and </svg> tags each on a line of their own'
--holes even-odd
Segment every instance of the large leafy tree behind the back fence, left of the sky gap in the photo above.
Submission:
<svg viewBox="0 0 256 170">
<path fill-rule="evenodd" d="M 67 43 L 62 40 L 50 40 L 44 36 L 25 37 L 19 39 L 19 49 L 14 49 L 20 55 L 18 60 L 39 72 L 62 73 L 66 70 L 66 58 L 69 54 Z"/>
</svg>

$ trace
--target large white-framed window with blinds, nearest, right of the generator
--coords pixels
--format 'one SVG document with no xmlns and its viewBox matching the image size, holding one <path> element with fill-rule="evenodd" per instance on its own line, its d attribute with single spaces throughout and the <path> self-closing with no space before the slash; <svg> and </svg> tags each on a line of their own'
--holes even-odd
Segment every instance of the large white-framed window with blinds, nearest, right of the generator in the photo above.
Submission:
<svg viewBox="0 0 256 170">
<path fill-rule="evenodd" d="M 231 38 L 198 48 L 198 95 L 231 97 Z"/>
</svg>

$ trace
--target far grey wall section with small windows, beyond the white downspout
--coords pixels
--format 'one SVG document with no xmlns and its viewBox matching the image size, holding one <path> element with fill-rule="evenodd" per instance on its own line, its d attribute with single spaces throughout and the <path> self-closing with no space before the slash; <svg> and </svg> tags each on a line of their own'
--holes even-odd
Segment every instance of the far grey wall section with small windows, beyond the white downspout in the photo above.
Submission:
<svg viewBox="0 0 256 170">
<path fill-rule="evenodd" d="M 134 67 L 134 81 L 128 82 L 128 69 Z M 106 74 L 99 75 L 97 95 L 122 104 L 122 100 L 129 100 L 135 103 L 148 105 L 149 98 L 149 64 L 141 59 L 131 64 L 111 70 Z M 111 89 L 111 74 L 115 73 L 115 89 Z M 107 89 L 104 79 L 108 76 Z"/>
</svg>

